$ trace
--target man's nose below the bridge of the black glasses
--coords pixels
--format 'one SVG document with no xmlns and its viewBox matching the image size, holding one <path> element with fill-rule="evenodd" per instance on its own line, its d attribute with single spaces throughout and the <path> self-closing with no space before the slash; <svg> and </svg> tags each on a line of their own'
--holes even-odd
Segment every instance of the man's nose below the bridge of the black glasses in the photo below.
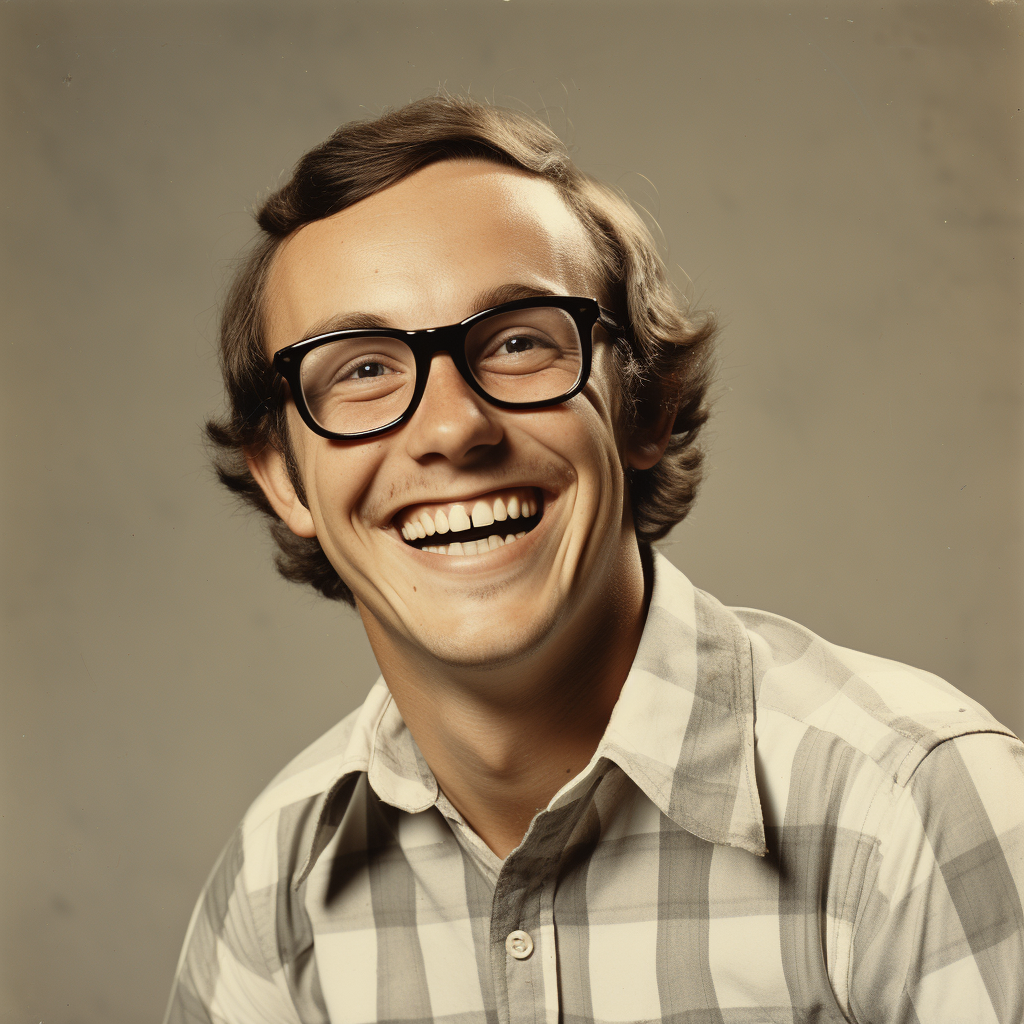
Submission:
<svg viewBox="0 0 1024 1024">
<path fill-rule="evenodd" d="M 440 456 L 465 464 L 501 443 L 500 410 L 484 401 L 463 380 L 446 352 L 430 360 L 430 376 L 413 418 L 402 431 L 416 460 Z"/>
</svg>

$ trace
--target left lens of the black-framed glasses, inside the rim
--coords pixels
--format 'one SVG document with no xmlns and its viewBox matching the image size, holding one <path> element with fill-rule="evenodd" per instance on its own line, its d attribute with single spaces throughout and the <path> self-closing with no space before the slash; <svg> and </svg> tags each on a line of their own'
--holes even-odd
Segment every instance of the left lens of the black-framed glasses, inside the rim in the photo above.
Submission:
<svg viewBox="0 0 1024 1024">
<path fill-rule="evenodd" d="M 338 434 L 397 420 L 413 400 L 416 360 L 397 338 L 343 338 L 302 360 L 302 396 L 312 418 Z"/>
</svg>

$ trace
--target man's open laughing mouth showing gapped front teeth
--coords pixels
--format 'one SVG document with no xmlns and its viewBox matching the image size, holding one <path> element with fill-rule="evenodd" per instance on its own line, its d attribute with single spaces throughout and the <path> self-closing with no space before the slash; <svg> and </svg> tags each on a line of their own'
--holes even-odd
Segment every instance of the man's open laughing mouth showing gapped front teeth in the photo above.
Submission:
<svg viewBox="0 0 1024 1024">
<path fill-rule="evenodd" d="M 540 490 L 514 487 L 468 502 L 410 506 L 394 524 L 410 547 L 438 555 L 475 555 L 514 544 L 543 515 Z"/>
</svg>

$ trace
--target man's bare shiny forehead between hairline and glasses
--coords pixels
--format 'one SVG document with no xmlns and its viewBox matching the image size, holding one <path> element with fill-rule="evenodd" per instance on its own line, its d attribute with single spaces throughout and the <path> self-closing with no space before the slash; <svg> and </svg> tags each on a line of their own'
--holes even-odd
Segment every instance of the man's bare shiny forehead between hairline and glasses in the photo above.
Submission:
<svg viewBox="0 0 1024 1024">
<path fill-rule="evenodd" d="M 416 330 L 488 291 L 595 290 L 593 244 L 549 182 L 483 160 L 431 164 L 282 244 L 266 289 L 271 351 L 346 313 Z"/>
</svg>

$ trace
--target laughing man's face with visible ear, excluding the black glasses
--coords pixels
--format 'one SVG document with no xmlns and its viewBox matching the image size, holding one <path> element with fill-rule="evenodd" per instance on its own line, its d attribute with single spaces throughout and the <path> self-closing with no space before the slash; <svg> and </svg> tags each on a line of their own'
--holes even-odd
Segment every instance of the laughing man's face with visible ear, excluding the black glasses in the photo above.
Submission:
<svg viewBox="0 0 1024 1024">
<path fill-rule="evenodd" d="M 433 164 L 284 243 L 267 288 L 270 350 L 346 314 L 414 330 L 458 323 L 518 292 L 598 297 L 586 231 L 547 182 L 485 161 Z M 415 415 L 383 436 L 328 440 L 289 404 L 307 509 L 279 456 L 253 465 L 291 528 L 318 538 L 375 648 L 452 666 L 508 664 L 546 644 L 586 643 L 595 610 L 636 592 L 617 401 L 607 343 L 595 344 L 583 392 L 532 411 L 488 404 L 438 353 Z M 509 515 L 524 502 L 538 507 L 536 527 L 485 552 L 424 551 L 401 532 L 424 515 L 435 528 L 438 513 L 458 519 L 456 505 L 473 518 L 474 509 L 495 514 L 500 503 Z M 508 534 L 521 531 L 507 522 Z"/>
</svg>

